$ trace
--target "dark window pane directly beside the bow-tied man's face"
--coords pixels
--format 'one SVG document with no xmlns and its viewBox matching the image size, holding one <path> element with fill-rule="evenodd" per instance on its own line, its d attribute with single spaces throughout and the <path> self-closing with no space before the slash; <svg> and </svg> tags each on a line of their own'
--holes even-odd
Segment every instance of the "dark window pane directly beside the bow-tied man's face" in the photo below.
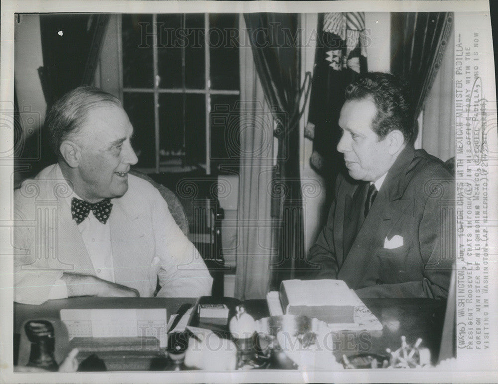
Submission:
<svg viewBox="0 0 498 384">
<path fill-rule="evenodd" d="M 133 149 L 137 167 L 155 167 L 154 96 L 150 93 L 124 93 L 124 110 L 133 125 Z"/>
</svg>

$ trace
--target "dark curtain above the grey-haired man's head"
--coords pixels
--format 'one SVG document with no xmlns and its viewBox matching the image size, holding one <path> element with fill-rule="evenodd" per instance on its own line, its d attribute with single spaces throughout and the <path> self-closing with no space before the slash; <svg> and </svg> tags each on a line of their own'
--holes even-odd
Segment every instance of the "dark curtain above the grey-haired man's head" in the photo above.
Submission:
<svg viewBox="0 0 498 384">
<path fill-rule="evenodd" d="M 38 69 L 47 106 L 93 82 L 108 14 L 40 15 L 43 67 Z"/>
</svg>

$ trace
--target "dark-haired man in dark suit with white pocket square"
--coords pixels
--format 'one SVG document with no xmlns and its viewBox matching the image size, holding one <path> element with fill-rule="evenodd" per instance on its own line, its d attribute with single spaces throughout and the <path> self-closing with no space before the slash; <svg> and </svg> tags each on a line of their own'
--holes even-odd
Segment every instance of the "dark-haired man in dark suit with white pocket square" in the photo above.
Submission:
<svg viewBox="0 0 498 384">
<path fill-rule="evenodd" d="M 411 144 L 409 94 L 394 76 L 348 86 L 339 175 L 326 226 L 310 249 L 312 277 L 344 280 L 360 297 L 446 298 L 454 260 L 454 180 Z M 431 127 L 424 127 L 431 129 Z"/>
</svg>

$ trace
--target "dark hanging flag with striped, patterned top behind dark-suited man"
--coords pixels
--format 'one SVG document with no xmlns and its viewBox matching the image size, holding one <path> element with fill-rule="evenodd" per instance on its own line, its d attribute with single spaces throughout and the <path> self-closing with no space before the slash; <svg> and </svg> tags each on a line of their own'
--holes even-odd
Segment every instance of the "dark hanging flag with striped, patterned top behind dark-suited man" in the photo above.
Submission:
<svg viewBox="0 0 498 384">
<path fill-rule="evenodd" d="M 310 165 L 323 176 L 330 204 L 333 183 L 344 166 L 336 150 L 340 139 L 339 114 L 346 86 L 367 72 L 367 34 L 364 12 L 318 15 L 319 31 L 305 137 L 313 140 Z M 332 188 L 330 188 L 332 187 Z"/>
</svg>

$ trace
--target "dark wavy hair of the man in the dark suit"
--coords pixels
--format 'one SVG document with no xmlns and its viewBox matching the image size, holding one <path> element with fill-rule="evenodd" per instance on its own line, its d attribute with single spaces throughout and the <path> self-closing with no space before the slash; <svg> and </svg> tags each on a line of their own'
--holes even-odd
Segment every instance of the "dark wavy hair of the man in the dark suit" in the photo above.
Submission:
<svg viewBox="0 0 498 384">
<path fill-rule="evenodd" d="M 371 98 L 377 107 L 373 118 L 373 130 L 379 138 L 398 129 L 405 142 L 413 143 L 417 137 L 418 125 L 414 119 L 412 97 L 402 79 L 382 72 L 362 75 L 346 88 L 346 101 Z"/>
</svg>

